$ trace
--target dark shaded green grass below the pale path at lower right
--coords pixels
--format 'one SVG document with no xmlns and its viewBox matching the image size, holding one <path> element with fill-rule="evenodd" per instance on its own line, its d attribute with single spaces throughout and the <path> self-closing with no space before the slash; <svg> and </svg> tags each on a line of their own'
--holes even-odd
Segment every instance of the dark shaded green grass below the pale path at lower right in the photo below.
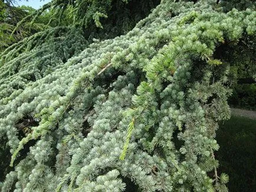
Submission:
<svg viewBox="0 0 256 192">
<path fill-rule="evenodd" d="M 256 191 L 256 120 L 233 116 L 219 127 L 218 171 L 229 175 L 229 191 Z"/>
</svg>

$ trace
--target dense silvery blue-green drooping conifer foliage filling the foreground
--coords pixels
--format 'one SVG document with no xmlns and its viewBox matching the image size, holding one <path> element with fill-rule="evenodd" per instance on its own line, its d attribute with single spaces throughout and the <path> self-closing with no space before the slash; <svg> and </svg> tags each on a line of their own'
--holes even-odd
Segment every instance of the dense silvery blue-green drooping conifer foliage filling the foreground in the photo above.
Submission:
<svg viewBox="0 0 256 192">
<path fill-rule="evenodd" d="M 162 0 L 126 35 L 89 43 L 76 24 L 6 49 L 1 191 L 227 191 L 221 50 L 255 42 L 256 12 L 223 10 Z"/>
</svg>

